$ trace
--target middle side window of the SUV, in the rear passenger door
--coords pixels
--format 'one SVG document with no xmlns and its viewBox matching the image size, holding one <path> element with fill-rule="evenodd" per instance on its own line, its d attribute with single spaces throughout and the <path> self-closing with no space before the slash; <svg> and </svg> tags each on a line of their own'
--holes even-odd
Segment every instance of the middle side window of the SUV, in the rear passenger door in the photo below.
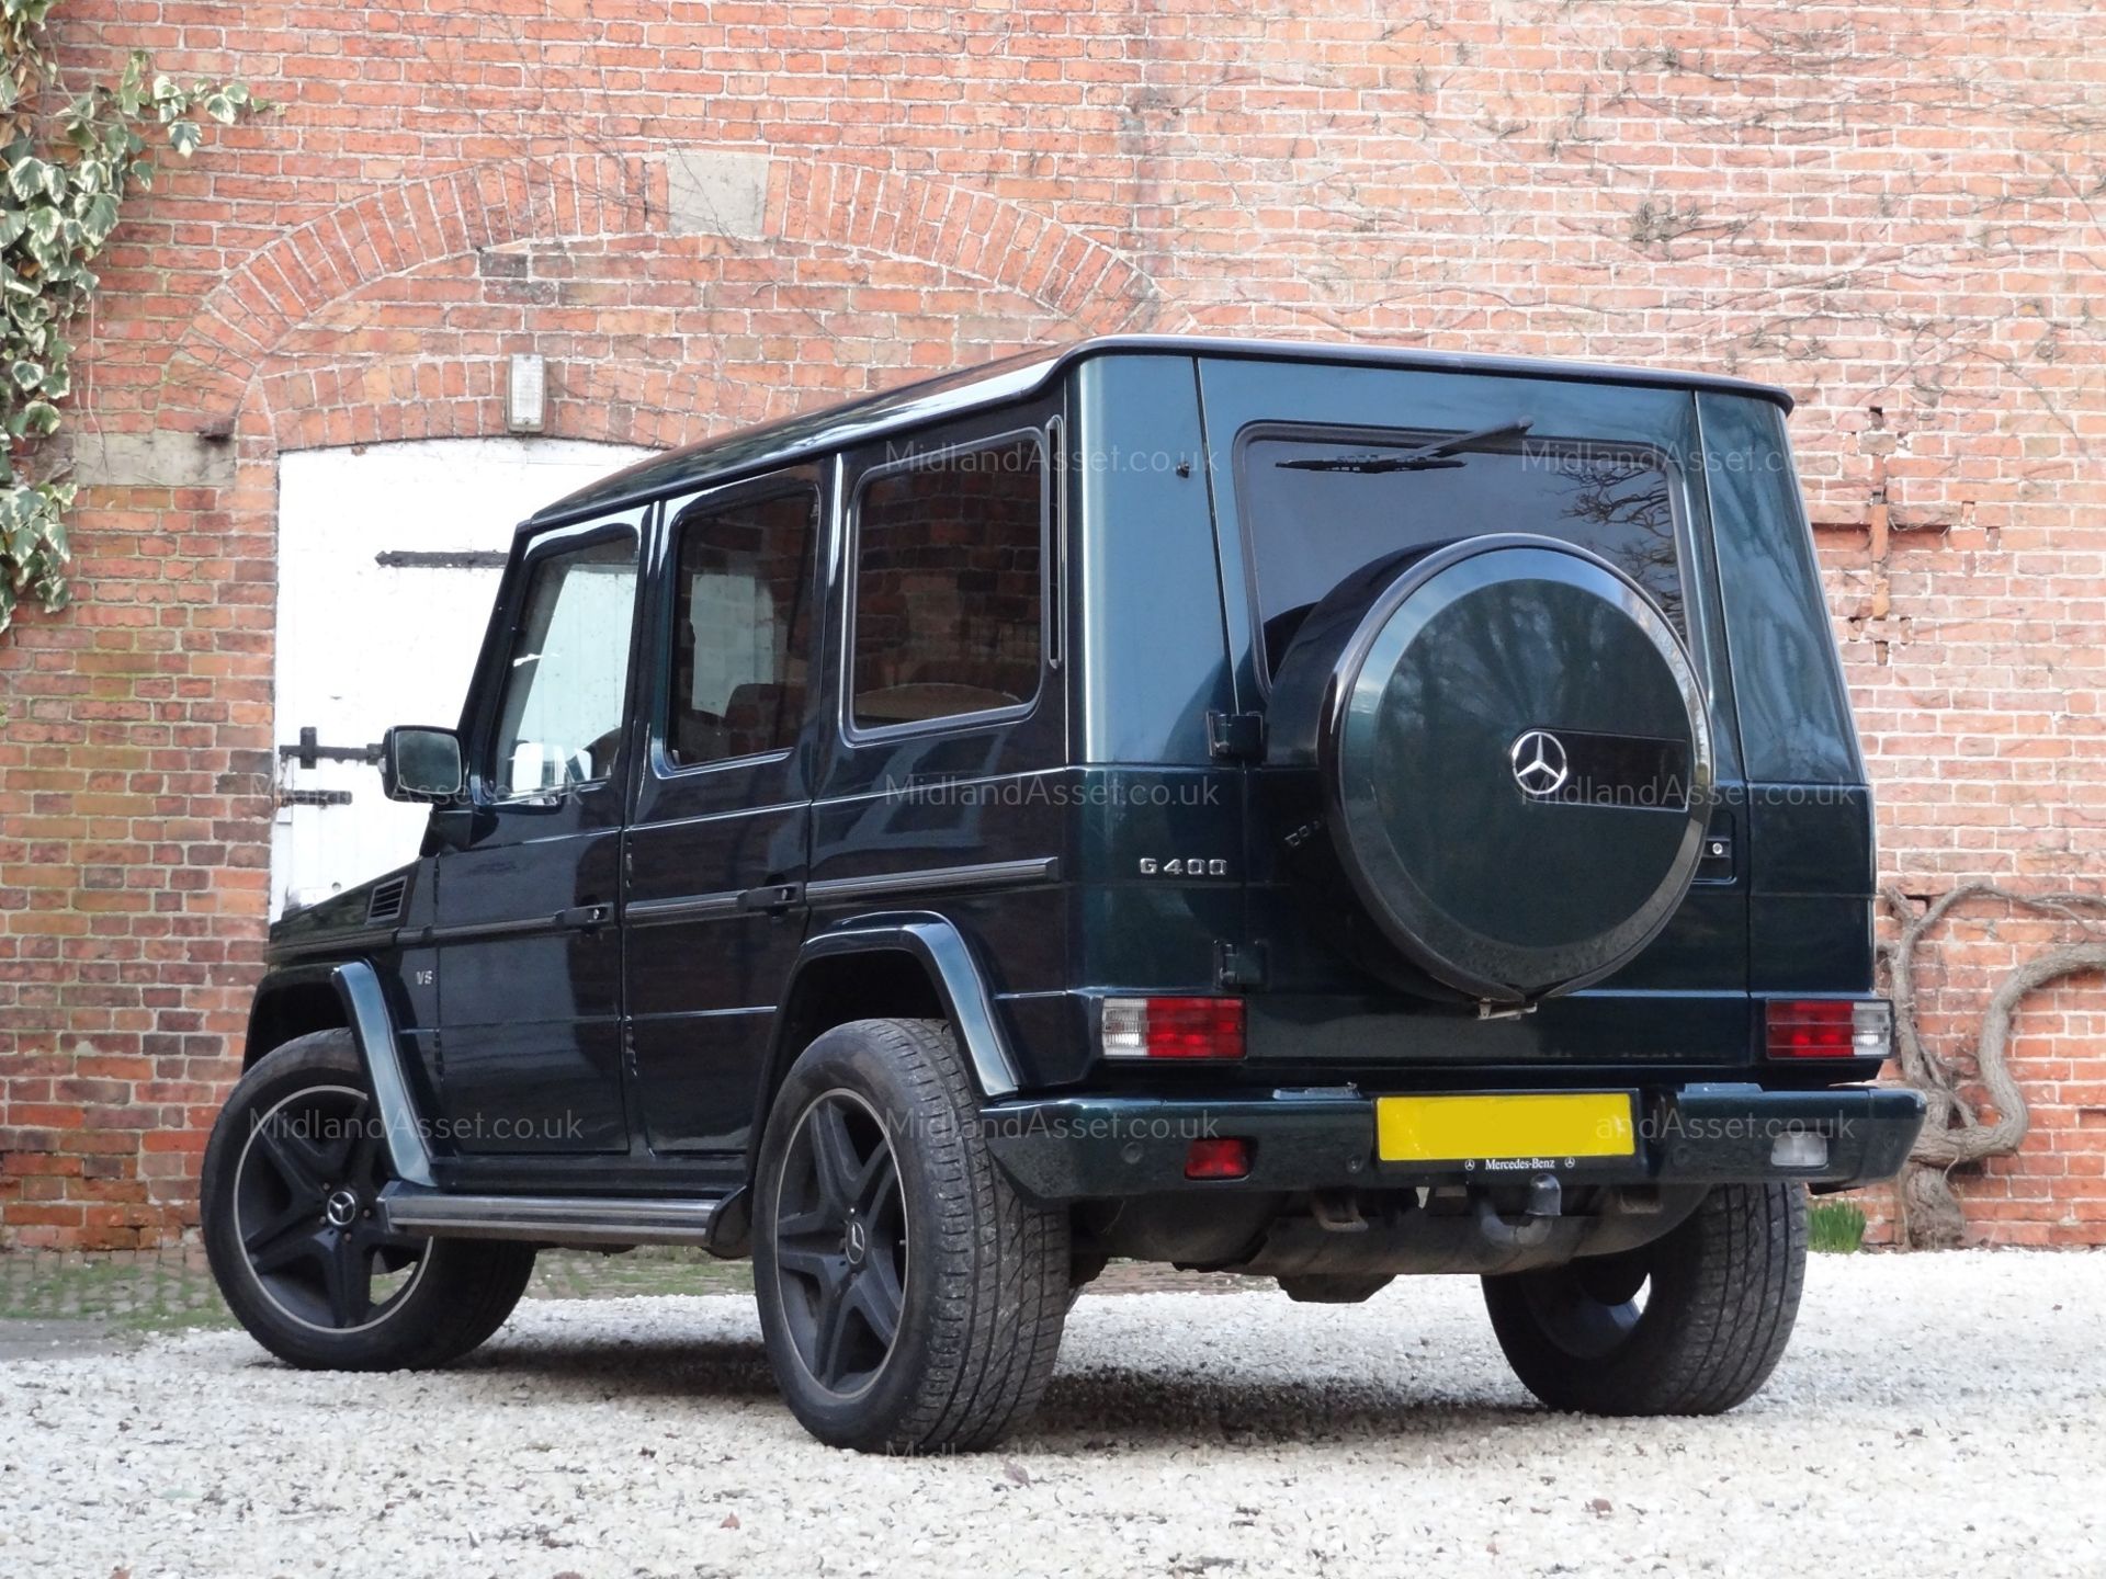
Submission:
<svg viewBox="0 0 2106 1579">
<path fill-rule="evenodd" d="M 788 747 L 804 722 L 819 495 L 691 505 L 674 522 L 672 705 L 678 766 Z"/>
</svg>

